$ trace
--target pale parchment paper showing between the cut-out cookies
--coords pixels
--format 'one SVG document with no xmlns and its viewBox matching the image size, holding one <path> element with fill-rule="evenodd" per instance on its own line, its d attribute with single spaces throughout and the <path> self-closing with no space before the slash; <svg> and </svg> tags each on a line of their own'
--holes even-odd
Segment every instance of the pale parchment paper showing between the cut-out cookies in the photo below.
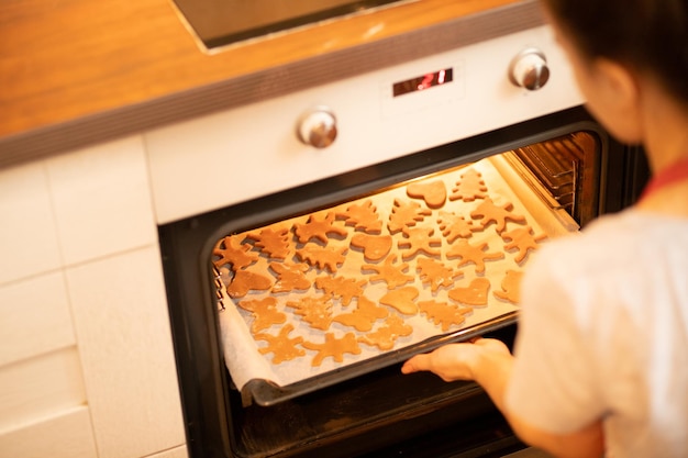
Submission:
<svg viewBox="0 0 688 458">
<path fill-rule="evenodd" d="M 440 176 L 435 175 L 432 177 L 428 177 L 425 179 L 429 181 L 434 181 L 437 179 L 443 180 L 446 186 L 447 196 L 450 196 L 452 193 L 452 189 L 456 187 L 456 182 L 460 180 L 460 175 L 469 167 L 475 168 L 481 174 L 481 178 L 487 187 L 488 197 L 492 199 L 492 201 L 497 205 L 501 206 L 507 203 L 513 204 L 513 209 L 511 210 L 511 212 L 514 214 L 524 215 L 526 217 L 526 224 L 533 228 L 535 235 L 545 234 L 547 236 L 545 241 L 542 241 L 540 243 L 547 243 L 548 239 L 552 239 L 563 234 L 575 232 L 577 230 L 577 225 L 575 224 L 575 222 L 573 222 L 573 220 L 568 217 L 564 212 L 553 211 L 552 209 L 547 208 L 543 201 L 534 197 L 533 192 L 525 188 L 525 185 L 522 182 L 522 180 L 520 180 L 518 176 L 513 175 L 513 169 L 507 165 L 502 157 L 495 156 L 491 158 L 482 159 L 478 163 L 459 167 L 447 172 L 443 172 Z M 370 199 L 377 208 L 379 219 L 384 223 L 382 234 L 388 234 L 387 223 L 389 221 L 389 214 L 391 212 L 395 198 L 402 201 L 415 201 L 420 203 L 423 209 L 428 210 L 428 206 L 422 199 L 411 199 L 407 196 L 406 186 L 399 186 L 393 189 L 388 189 L 375 196 L 366 196 L 357 201 L 347 202 L 346 204 L 340 205 L 339 208 L 333 210 L 341 211 L 354 203 L 360 203 L 366 199 Z M 418 222 L 418 226 L 432 227 L 434 230 L 434 233 L 431 235 L 431 237 L 442 241 L 442 255 L 440 257 L 435 256 L 433 258 L 444 262 L 447 267 L 456 266 L 459 261 L 458 259 L 446 258 L 446 252 L 450 249 L 452 244 L 450 244 L 443 236 L 442 231 L 440 230 L 440 226 L 437 224 L 437 216 L 440 214 L 440 211 L 453 212 L 455 214 L 463 215 L 465 219 L 470 219 L 470 212 L 474 211 L 481 201 L 481 199 L 476 199 L 473 202 L 464 202 L 462 200 L 450 201 L 447 199 L 443 208 L 432 210 L 431 215 L 425 216 L 422 222 Z M 309 215 L 300 216 L 297 219 L 280 222 L 278 224 L 292 227 L 293 223 L 296 222 L 304 223 L 308 220 L 308 216 Z M 348 235 L 346 237 L 332 237 L 329 239 L 328 245 L 330 246 L 330 244 L 332 244 L 333 246 L 346 246 L 348 247 L 348 252 L 344 265 L 341 266 L 334 275 L 345 278 L 369 279 L 370 273 L 377 273 L 375 271 L 362 272 L 362 265 L 374 262 L 364 259 L 363 253 L 360 250 L 353 249 L 349 246 L 351 237 L 355 233 L 354 228 L 351 226 L 345 226 L 344 220 L 339 220 L 335 224 L 341 227 L 348 227 Z M 506 231 L 511 231 L 519 226 L 524 226 L 524 224 L 508 222 Z M 256 228 L 255 231 L 259 231 L 259 228 Z M 251 241 L 243 237 L 243 235 L 240 234 L 237 236 L 241 238 L 242 243 L 251 243 Z M 419 257 L 425 256 L 424 254 L 418 254 L 417 256 L 407 260 L 403 260 L 401 258 L 403 249 L 399 248 L 397 244 L 400 239 L 402 239 L 402 237 L 403 235 L 400 233 L 395 235 L 395 243 L 391 249 L 391 254 L 396 253 L 398 255 L 398 262 L 408 262 L 409 268 L 406 271 L 407 275 L 415 276 L 415 281 L 407 286 L 413 286 L 420 291 L 420 295 L 417 299 L 417 302 L 424 300 L 436 300 L 455 304 L 456 302 L 454 302 L 452 299 L 448 299 L 447 295 L 448 291 L 452 288 L 466 287 L 469 284 L 470 280 L 477 277 L 484 277 L 490 280 L 491 287 L 488 293 L 487 306 L 475 306 L 473 312 L 466 315 L 466 321 L 463 324 L 458 326 L 453 326 L 446 332 L 454 332 L 474 324 L 484 323 L 495 317 L 501 316 L 506 313 L 518 310 L 517 304 L 498 299 L 497 297 L 495 297 L 493 292 L 501 289 L 500 283 L 507 270 L 522 271 L 523 268 L 526 266 L 528 260 L 532 258 L 532 256 L 536 255 L 536 250 L 531 250 L 525 260 L 521 264 L 515 262 L 514 256 L 517 253 L 504 252 L 506 243 L 496 232 L 493 223 L 485 227 L 484 231 L 474 232 L 473 235 L 468 238 L 468 242 L 471 245 L 477 245 L 478 243 L 486 242 L 488 244 L 488 248 L 486 252 L 503 252 L 504 258 L 501 260 L 486 261 L 486 270 L 484 273 L 477 273 L 474 264 L 468 264 L 464 267 L 460 267 L 458 270 L 463 272 L 463 276 L 455 279 L 452 287 L 441 287 L 436 292 L 432 292 L 430 287 L 428 284 L 424 284 L 420 280 L 420 276 L 415 270 L 417 259 Z M 456 241 L 454 243 L 456 243 Z M 298 247 L 302 247 L 302 245 L 297 243 L 296 237 L 292 237 L 292 253 L 296 253 L 296 249 Z M 258 247 L 254 246 L 253 250 L 259 253 Z M 248 268 L 255 272 L 260 272 L 266 277 L 276 279 L 276 273 L 268 268 L 268 264 L 274 260 L 275 259 L 268 259 L 265 255 L 262 255 L 260 259 Z M 299 259 L 291 257 L 288 259 L 288 261 L 300 262 Z M 379 262 L 381 262 L 381 260 Z M 222 271 L 224 273 L 225 283 L 229 283 L 232 277 L 231 271 L 226 266 L 223 268 Z M 368 276 L 362 273 L 368 273 Z M 381 351 L 377 347 L 362 344 L 362 353 L 359 355 L 347 354 L 344 356 L 344 360 L 342 362 L 337 362 L 332 357 L 329 357 L 322 361 L 321 366 L 314 367 L 312 366 L 312 360 L 315 351 L 313 350 L 307 349 L 303 357 L 290 361 L 285 361 L 279 365 L 275 365 L 271 362 L 273 354 L 262 355 L 259 353 L 259 348 L 266 346 L 266 343 L 263 340 L 254 340 L 254 338 L 252 337 L 248 327 L 253 321 L 251 313 L 243 309 L 235 308 L 233 306 L 233 304 L 238 303 L 242 300 L 262 299 L 268 295 L 273 295 L 278 300 L 278 309 L 287 314 L 287 323 L 291 323 L 295 326 L 295 331 L 290 334 L 290 337 L 301 335 L 307 340 L 322 343 L 324 339 L 324 332 L 311 328 L 307 323 L 302 322 L 299 316 L 293 315 L 291 313 L 293 312 L 293 309 L 288 308 L 286 304 L 289 301 L 298 300 L 298 298 L 303 298 L 307 295 L 323 295 L 323 291 L 317 289 L 313 281 L 315 278 L 322 277 L 324 275 L 333 273 L 331 273 L 326 269 L 321 270 L 315 267 L 311 267 L 310 270 L 307 272 L 307 277 L 311 280 L 312 286 L 307 291 L 298 291 L 291 293 L 252 291 L 244 298 L 234 299 L 230 299 L 225 294 L 224 304 L 226 305 L 226 310 L 219 313 L 222 329 L 224 358 L 232 379 L 240 390 L 248 380 L 254 378 L 269 380 L 278 386 L 284 387 L 300 380 L 315 377 L 332 369 L 345 367 L 353 362 L 381 354 Z M 387 284 L 385 282 L 368 282 L 365 286 L 364 294 L 366 298 L 378 303 L 379 298 L 388 291 L 389 290 L 387 289 Z M 341 301 L 335 300 L 332 310 L 333 314 L 336 315 L 337 313 L 346 312 L 347 310 L 351 311 L 351 309 L 355 306 L 356 300 L 352 301 L 352 303 L 346 306 L 343 305 Z M 392 308 L 389 308 L 389 311 L 390 313 L 399 314 Z M 409 345 L 413 345 L 428 337 L 446 333 L 442 331 L 440 325 L 435 325 L 424 314 L 419 313 L 413 316 L 406 316 L 401 314 L 399 315 L 404 317 L 406 323 L 413 326 L 413 333 L 408 337 L 399 338 L 393 349 L 399 349 Z M 376 327 L 373 331 L 381 326 L 382 323 L 382 320 L 378 321 L 378 323 L 376 323 Z M 270 329 L 266 329 L 263 332 L 277 334 L 280 327 L 281 325 L 274 325 Z M 339 323 L 332 323 L 329 331 L 333 332 L 336 336 L 342 336 L 347 332 L 354 332 L 357 335 L 363 334 L 356 332 L 356 329 L 354 329 L 353 327 L 344 326 Z"/>
</svg>

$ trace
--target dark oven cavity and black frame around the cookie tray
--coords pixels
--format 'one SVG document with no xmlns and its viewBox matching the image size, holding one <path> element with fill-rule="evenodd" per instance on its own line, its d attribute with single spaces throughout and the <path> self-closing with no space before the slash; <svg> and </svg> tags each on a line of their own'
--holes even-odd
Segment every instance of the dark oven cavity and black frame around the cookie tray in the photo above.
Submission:
<svg viewBox="0 0 688 458">
<path fill-rule="evenodd" d="M 286 387 L 251 380 L 241 390 L 223 358 L 226 343 L 218 317 L 222 308 L 238 301 L 218 295 L 218 286 L 223 290 L 232 281 L 226 272 L 219 279 L 213 254 L 228 235 L 420 179 L 436 180 L 446 170 L 495 157 L 573 231 L 630 204 L 645 170 L 641 152 L 613 142 L 576 108 L 160 226 L 190 455 L 489 457 L 522 448 L 475 383 L 445 383 L 431 373 L 401 376 L 399 370 L 414 353 L 475 335 L 511 345 L 518 313 L 458 325 Z"/>
</svg>

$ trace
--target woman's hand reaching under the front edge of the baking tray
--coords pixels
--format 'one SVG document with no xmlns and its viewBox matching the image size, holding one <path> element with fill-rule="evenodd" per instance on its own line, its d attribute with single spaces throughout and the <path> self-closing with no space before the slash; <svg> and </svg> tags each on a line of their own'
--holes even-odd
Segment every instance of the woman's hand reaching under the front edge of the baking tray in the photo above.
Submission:
<svg viewBox="0 0 688 458">
<path fill-rule="evenodd" d="M 477 338 L 473 343 L 448 344 L 425 355 L 415 355 L 401 367 L 402 373 L 429 370 L 444 381 L 476 380 L 488 369 L 485 361 L 511 359 L 509 348 L 498 339 Z"/>
</svg>

